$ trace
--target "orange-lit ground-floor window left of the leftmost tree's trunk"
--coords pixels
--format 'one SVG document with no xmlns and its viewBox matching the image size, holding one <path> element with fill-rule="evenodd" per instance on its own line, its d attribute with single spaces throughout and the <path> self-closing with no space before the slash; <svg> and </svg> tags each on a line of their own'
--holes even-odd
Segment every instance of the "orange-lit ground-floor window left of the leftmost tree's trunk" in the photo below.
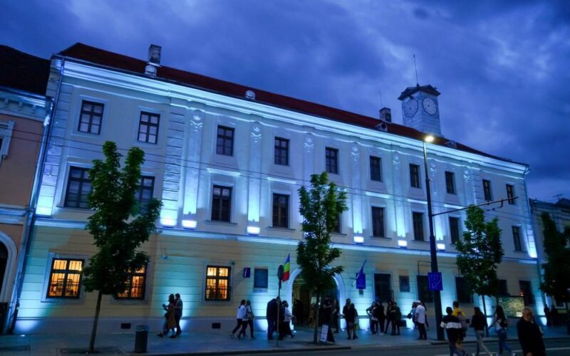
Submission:
<svg viewBox="0 0 570 356">
<path fill-rule="evenodd" d="M 53 258 L 47 298 L 79 298 L 83 260 Z"/>
</svg>

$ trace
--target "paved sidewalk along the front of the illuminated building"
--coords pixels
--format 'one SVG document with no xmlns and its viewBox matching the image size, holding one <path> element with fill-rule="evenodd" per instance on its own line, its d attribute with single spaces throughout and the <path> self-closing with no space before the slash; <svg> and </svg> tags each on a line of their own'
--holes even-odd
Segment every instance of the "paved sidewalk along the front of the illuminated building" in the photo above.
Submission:
<svg viewBox="0 0 570 356">
<path fill-rule="evenodd" d="M 509 339 L 517 342 L 515 328 L 509 328 Z M 545 338 L 569 337 L 566 328 L 543 328 Z M 472 330 L 469 331 L 472 334 Z M 493 335 L 491 332 L 490 335 Z M 227 332 L 182 333 L 175 339 L 160 338 L 155 333 L 148 335 L 147 355 L 172 354 L 254 354 L 259 352 L 283 352 L 294 350 L 331 350 L 365 347 L 397 347 L 403 345 L 420 346 L 437 343 L 435 328 L 428 330 L 428 340 L 416 340 L 417 331 L 400 329 L 399 336 L 371 335 L 366 330 L 358 331 L 358 340 L 347 340 L 346 333 L 334 334 L 335 344 L 313 345 L 312 329 L 297 330 L 294 339 L 290 337 L 279 341 L 266 340 L 266 333 L 255 333 L 256 338 L 249 336 L 242 340 L 230 339 Z M 80 355 L 84 354 L 88 342 L 88 334 L 68 335 L 0 335 L 0 355 Z M 497 337 L 489 337 L 486 342 L 495 342 Z M 475 337 L 468 335 L 465 342 L 475 342 Z M 135 332 L 100 334 L 95 347 L 100 351 L 98 355 L 130 355 L 135 345 Z M 136 354 L 135 354 L 136 355 Z"/>
</svg>

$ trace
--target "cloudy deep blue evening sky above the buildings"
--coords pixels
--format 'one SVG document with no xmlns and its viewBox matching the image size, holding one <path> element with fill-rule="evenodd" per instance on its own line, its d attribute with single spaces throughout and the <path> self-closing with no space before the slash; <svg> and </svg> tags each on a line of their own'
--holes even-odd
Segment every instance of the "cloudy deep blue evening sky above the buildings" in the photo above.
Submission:
<svg viewBox="0 0 570 356">
<path fill-rule="evenodd" d="M 529 196 L 570 198 L 570 1 L 12 1 L 0 43 L 83 42 L 363 115 L 421 85 L 445 137 L 531 166 Z M 381 101 L 380 101 L 381 92 Z"/>
</svg>

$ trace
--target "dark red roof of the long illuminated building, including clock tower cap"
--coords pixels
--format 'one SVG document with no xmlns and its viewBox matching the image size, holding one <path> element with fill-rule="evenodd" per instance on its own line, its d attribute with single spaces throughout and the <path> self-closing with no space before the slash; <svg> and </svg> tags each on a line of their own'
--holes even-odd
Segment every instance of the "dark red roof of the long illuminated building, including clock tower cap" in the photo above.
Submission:
<svg viewBox="0 0 570 356">
<path fill-rule="evenodd" d="M 140 59 L 128 56 L 123 56 L 122 54 L 113 53 L 110 51 L 105 51 L 100 48 L 88 46 L 83 43 L 75 43 L 73 46 L 66 48 L 65 50 L 61 51 L 58 54 L 66 58 L 72 58 L 72 59 L 75 58 L 76 60 L 85 61 L 97 66 L 112 68 L 113 70 L 120 70 L 133 75 L 140 75 L 149 78 L 147 75 L 144 74 L 145 67 L 148 64 L 146 61 L 142 61 Z M 318 117 L 325 117 L 339 122 L 346 122 L 348 124 L 366 127 L 371 130 L 377 130 L 376 125 L 380 124 L 381 122 L 379 119 L 376 119 L 374 117 L 368 117 L 365 115 L 356 114 L 354 112 L 348 112 L 341 109 L 331 108 L 326 105 L 311 103 L 306 100 L 291 98 L 285 95 L 270 93 L 265 90 L 259 90 L 257 88 L 252 88 L 237 83 L 231 83 L 225 80 L 219 80 L 216 78 L 207 77 L 205 75 L 200 75 L 197 73 L 191 73 L 185 70 L 171 68 L 168 66 L 160 66 L 160 68 L 158 68 L 156 79 L 177 83 L 179 85 L 185 85 L 192 88 L 199 88 L 201 90 L 208 90 L 222 95 L 229 95 L 235 98 L 242 98 L 244 100 L 246 100 L 245 99 L 246 91 L 253 90 L 255 93 L 255 101 L 257 103 L 264 103 L 266 105 L 271 105 L 278 108 L 284 108 L 296 112 L 303 112 Z M 433 88 L 431 85 L 424 85 L 421 87 L 410 87 L 410 88 L 415 88 L 415 89 L 420 88 L 421 90 L 425 91 L 430 90 L 428 92 L 434 93 L 434 95 L 439 95 L 439 92 L 437 92 L 437 90 L 435 90 L 435 88 Z M 404 93 L 405 92 L 406 91 L 404 91 Z M 415 140 L 423 140 L 423 138 L 425 137 L 425 133 L 415 130 L 411 127 L 398 125 L 393 122 L 385 122 L 385 125 L 388 127 L 387 132 L 393 135 L 409 137 Z M 450 142 L 450 140 L 446 139 L 445 137 L 436 137 L 433 143 L 435 145 L 445 145 L 448 142 Z M 455 147 L 450 146 L 449 144 L 447 145 L 447 147 L 452 147 L 457 150 L 474 153 L 476 155 L 483 155 L 486 157 L 492 157 L 495 159 L 512 162 L 509 159 L 488 155 L 487 153 L 474 150 L 471 147 L 467 147 L 460 143 L 454 142 L 454 144 Z"/>
</svg>

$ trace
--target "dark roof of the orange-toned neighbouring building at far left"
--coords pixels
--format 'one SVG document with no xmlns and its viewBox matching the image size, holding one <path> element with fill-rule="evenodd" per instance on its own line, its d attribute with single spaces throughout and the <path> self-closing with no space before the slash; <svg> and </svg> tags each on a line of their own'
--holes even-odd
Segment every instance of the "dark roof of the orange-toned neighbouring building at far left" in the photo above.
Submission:
<svg viewBox="0 0 570 356">
<path fill-rule="evenodd" d="M 1 86 L 46 95 L 50 66 L 48 59 L 0 45 L 0 63 Z"/>
</svg>

